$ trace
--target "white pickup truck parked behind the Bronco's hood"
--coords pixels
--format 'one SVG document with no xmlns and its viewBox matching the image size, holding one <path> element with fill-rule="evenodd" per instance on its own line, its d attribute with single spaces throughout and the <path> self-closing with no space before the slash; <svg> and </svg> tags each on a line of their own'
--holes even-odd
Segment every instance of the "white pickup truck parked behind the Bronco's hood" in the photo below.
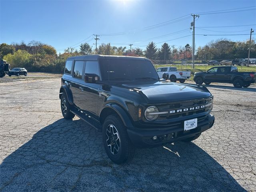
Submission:
<svg viewBox="0 0 256 192">
<path fill-rule="evenodd" d="M 186 79 L 190 78 L 190 71 L 178 71 L 176 67 L 160 67 L 156 69 L 158 76 L 164 79 L 170 79 L 171 82 L 176 82 L 177 80 L 184 83 Z"/>
</svg>

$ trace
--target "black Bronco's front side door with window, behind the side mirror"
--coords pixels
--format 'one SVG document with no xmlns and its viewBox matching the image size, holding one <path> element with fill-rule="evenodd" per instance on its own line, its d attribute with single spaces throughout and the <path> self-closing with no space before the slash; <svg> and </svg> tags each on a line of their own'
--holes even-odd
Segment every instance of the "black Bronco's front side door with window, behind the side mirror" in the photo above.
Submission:
<svg viewBox="0 0 256 192">
<path fill-rule="evenodd" d="M 86 61 L 85 74 L 96 74 L 99 76 L 97 61 Z M 98 95 L 100 84 L 83 82 L 80 91 L 81 109 L 92 117 L 98 119 Z"/>
</svg>

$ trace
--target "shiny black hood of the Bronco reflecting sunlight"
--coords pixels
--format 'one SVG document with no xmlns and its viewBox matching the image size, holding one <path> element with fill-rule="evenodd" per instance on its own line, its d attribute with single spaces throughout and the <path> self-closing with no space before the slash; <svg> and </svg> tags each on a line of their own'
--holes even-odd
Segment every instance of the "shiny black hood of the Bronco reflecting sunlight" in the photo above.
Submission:
<svg viewBox="0 0 256 192">
<path fill-rule="evenodd" d="M 131 84 L 115 85 L 130 91 L 138 91 L 148 103 L 163 103 L 182 100 L 192 100 L 206 98 L 212 94 L 207 88 L 189 84 L 179 84 L 173 82 L 132 82 Z M 134 90 L 135 89 L 135 90 Z"/>
</svg>

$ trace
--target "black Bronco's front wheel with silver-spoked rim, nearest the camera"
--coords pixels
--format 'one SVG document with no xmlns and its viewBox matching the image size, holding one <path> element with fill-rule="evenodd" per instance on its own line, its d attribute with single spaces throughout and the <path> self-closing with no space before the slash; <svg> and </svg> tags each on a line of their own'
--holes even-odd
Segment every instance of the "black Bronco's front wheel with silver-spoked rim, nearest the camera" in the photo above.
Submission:
<svg viewBox="0 0 256 192">
<path fill-rule="evenodd" d="M 129 161 L 134 156 L 135 148 L 122 120 L 116 114 L 108 116 L 104 121 L 102 142 L 108 157 L 116 164 Z"/>
</svg>

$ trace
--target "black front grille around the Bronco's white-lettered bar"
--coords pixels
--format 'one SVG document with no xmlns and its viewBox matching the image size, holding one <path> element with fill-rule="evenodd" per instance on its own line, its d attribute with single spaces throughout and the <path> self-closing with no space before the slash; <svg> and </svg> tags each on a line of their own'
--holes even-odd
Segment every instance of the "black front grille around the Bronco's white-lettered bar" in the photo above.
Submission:
<svg viewBox="0 0 256 192">
<path fill-rule="evenodd" d="M 184 102 L 175 102 L 175 103 L 170 103 L 170 104 L 161 104 L 158 105 L 157 108 L 159 112 L 166 112 L 168 111 L 168 114 L 161 114 L 158 116 L 158 120 L 162 119 L 173 119 L 173 118 L 179 118 L 182 116 L 190 116 L 194 114 L 200 114 L 203 112 L 208 111 L 207 107 L 204 108 L 199 108 L 199 109 L 194 109 L 194 110 L 188 110 L 188 111 L 182 111 L 182 112 L 175 112 L 175 113 L 170 113 L 170 111 L 173 110 L 179 110 L 179 109 L 184 109 L 184 108 L 195 108 L 196 106 L 202 106 L 208 104 L 209 100 L 211 98 L 204 98 L 200 100 L 189 100 L 189 101 L 184 101 Z"/>
</svg>

